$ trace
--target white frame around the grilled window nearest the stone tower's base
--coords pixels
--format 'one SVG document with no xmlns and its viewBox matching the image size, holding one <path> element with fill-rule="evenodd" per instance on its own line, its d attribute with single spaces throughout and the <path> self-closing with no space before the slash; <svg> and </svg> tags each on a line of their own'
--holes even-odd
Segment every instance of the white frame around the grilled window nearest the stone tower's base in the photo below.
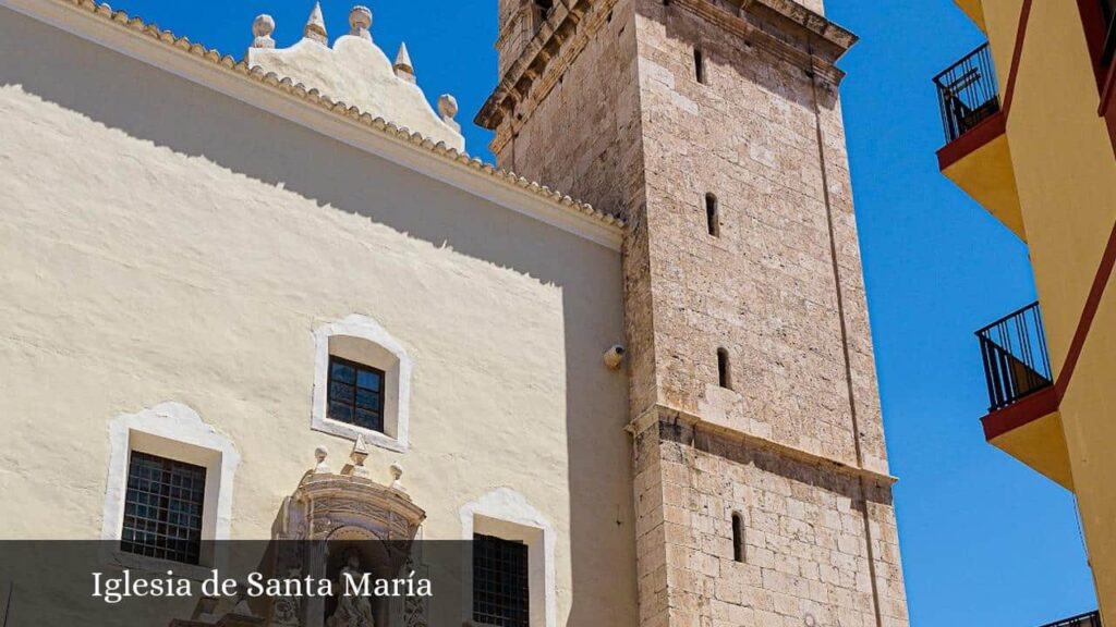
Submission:
<svg viewBox="0 0 1116 627">
<path fill-rule="evenodd" d="M 472 541 L 474 533 L 494 536 L 527 544 L 528 595 L 531 627 L 557 627 L 558 604 L 555 589 L 555 529 L 542 512 L 510 488 L 498 488 L 461 508 L 461 538 Z M 471 561 L 470 561 L 471 563 Z M 473 623 L 472 569 L 466 569 L 464 587 L 465 620 Z M 477 627 L 484 627 L 477 625 Z"/>
</svg>

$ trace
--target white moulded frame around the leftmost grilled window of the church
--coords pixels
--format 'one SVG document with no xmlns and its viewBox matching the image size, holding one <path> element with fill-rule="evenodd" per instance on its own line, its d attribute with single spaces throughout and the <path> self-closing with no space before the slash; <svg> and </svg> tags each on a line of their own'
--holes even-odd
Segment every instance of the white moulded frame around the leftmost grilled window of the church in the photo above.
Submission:
<svg viewBox="0 0 1116 627">
<path fill-rule="evenodd" d="M 232 488 L 240 453 L 232 441 L 205 424 L 201 415 L 182 403 L 160 403 L 136 414 L 122 414 L 108 425 L 108 479 L 100 528 L 103 561 L 148 571 L 166 570 L 195 579 L 220 567 L 221 556 L 206 552 L 208 540 L 228 540 L 232 527 Z M 198 565 L 185 565 L 122 551 L 124 505 L 132 452 L 147 453 L 205 469 L 202 502 L 202 556 Z"/>
</svg>

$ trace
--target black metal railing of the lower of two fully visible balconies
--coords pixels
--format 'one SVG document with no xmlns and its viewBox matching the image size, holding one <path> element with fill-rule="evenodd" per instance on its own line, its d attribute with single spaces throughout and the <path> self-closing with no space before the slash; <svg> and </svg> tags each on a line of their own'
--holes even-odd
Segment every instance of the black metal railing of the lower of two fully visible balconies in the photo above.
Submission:
<svg viewBox="0 0 1116 627">
<path fill-rule="evenodd" d="M 1052 384 L 1038 302 L 977 331 L 977 338 L 984 359 L 990 412 Z"/>
</svg>

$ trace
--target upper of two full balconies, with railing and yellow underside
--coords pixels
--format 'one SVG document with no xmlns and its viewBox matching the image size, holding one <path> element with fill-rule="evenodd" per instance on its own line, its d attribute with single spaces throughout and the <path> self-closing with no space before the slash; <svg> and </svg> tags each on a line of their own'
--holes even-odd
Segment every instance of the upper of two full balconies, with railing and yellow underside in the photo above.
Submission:
<svg viewBox="0 0 1116 627">
<path fill-rule="evenodd" d="M 988 44 L 934 77 L 945 146 L 943 174 L 1020 238 L 1019 192 L 1008 147 L 1007 116 Z"/>
</svg>

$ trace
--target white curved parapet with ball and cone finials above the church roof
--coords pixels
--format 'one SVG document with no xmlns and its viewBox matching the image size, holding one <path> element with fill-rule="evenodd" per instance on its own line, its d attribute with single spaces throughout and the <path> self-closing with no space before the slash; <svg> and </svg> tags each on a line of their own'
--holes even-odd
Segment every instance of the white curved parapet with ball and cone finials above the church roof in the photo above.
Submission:
<svg viewBox="0 0 1116 627">
<path fill-rule="evenodd" d="M 260 16 L 256 23 L 271 18 Z M 273 29 L 273 21 L 270 22 Z M 435 141 L 464 149 L 461 127 L 439 116 L 415 84 L 414 67 L 401 48 L 401 58 L 392 64 L 372 40 L 372 11 L 356 6 L 349 11 L 349 35 L 338 37 L 333 47 L 326 37 L 320 4 L 314 6 L 304 29 L 304 38 L 289 48 L 256 46 L 248 50 L 250 66 L 289 76 L 314 85 L 363 110 L 382 115 L 401 126 L 417 131 Z M 253 26 L 253 32 L 259 30 Z M 270 30 L 270 29 L 269 29 Z M 269 31 L 270 35 L 270 31 Z"/>
</svg>

